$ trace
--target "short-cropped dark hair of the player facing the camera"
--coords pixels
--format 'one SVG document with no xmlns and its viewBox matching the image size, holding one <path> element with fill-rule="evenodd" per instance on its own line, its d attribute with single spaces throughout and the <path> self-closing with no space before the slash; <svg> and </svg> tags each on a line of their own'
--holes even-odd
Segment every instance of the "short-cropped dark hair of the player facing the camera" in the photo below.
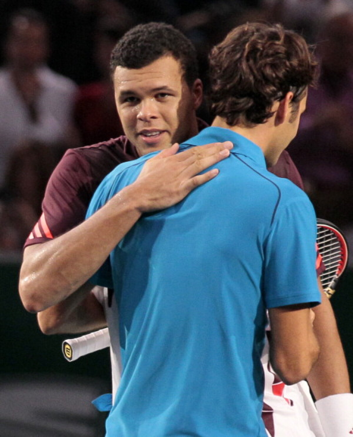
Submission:
<svg viewBox="0 0 353 437">
<path fill-rule="evenodd" d="M 196 49 L 183 33 L 165 23 L 138 24 L 127 31 L 111 52 L 111 74 L 118 66 L 143 68 L 168 54 L 180 61 L 191 87 L 198 78 Z"/>
</svg>

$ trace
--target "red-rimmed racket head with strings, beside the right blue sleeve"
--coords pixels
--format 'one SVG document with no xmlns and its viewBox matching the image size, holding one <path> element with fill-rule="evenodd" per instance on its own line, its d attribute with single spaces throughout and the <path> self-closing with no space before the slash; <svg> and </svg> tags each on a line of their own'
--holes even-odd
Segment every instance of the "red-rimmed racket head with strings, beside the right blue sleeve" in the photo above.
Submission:
<svg viewBox="0 0 353 437">
<path fill-rule="evenodd" d="M 322 218 L 317 219 L 316 243 L 325 265 L 325 271 L 320 275 L 322 288 L 330 298 L 347 267 L 348 245 L 342 231 Z"/>
</svg>

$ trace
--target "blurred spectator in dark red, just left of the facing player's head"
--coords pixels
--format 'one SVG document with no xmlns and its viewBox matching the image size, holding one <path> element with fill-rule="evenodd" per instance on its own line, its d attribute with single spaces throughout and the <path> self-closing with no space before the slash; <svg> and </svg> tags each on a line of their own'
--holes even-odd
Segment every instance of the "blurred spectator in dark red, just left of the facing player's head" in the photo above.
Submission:
<svg viewBox="0 0 353 437">
<path fill-rule="evenodd" d="M 119 19 L 106 17 L 97 26 L 94 57 L 101 73 L 101 80 L 79 88 L 74 115 L 84 145 L 124 134 L 116 111 L 109 61 L 118 39 L 132 27 L 132 24 L 128 14 L 124 14 Z"/>
</svg>

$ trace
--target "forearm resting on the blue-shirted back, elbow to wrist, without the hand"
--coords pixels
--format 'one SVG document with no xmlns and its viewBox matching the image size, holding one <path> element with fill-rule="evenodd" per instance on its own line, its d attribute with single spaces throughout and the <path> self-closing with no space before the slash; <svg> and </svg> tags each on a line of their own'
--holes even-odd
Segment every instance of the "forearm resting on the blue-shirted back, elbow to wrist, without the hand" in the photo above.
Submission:
<svg viewBox="0 0 353 437">
<path fill-rule="evenodd" d="M 27 247 L 19 282 L 24 307 L 43 311 L 84 284 L 140 218 L 137 205 L 137 191 L 126 187 L 76 228 Z"/>
</svg>

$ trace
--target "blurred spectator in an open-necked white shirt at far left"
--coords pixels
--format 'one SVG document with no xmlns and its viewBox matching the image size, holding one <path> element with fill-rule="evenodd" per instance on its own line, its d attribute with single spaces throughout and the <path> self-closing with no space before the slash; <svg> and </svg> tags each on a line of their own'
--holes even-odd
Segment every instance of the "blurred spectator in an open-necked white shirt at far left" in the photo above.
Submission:
<svg viewBox="0 0 353 437">
<path fill-rule="evenodd" d="M 78 146 L 72 111 L 76 85 L 50 70 L 48 26 L 35 10 L 11 18 L 0 70 L 0 185 L 10 153 L 25 140 Z"/>
</svg>

